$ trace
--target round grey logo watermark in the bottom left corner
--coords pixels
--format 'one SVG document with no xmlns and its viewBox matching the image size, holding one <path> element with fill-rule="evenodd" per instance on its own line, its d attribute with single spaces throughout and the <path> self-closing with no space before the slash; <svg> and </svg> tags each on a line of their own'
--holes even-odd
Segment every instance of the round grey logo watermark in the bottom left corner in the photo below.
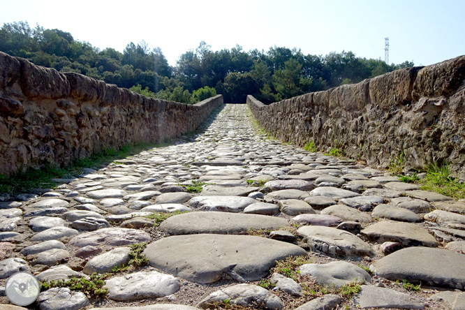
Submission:
<svg viewBox="0 0 465 310">
<path fill-rule="evenodd" d="M 5 285 L 6 297 L 17 306 L 28 306 L 36 301 L 40 285 L 29 272 L 16 272 L 8 278 Z"/>
</svg>

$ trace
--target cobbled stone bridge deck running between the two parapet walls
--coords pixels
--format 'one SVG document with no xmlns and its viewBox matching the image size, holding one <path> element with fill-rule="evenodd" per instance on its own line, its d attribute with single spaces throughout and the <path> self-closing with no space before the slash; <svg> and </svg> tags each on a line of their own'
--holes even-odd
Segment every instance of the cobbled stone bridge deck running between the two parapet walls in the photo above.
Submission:
<svg viewBox="0 0 465 310">
<path fill-rule="evenodd" d="M 154 212 L 176 211 L 154 226 Z M 383 171 L 269 140 L 246 105 L 228 104 L 168 147 L 0 202 L 0 286 L 17 271 L 110 272 L 108 298 L 50 288 L 40 309 L 463 309 L 464 213 Z M 149 265 L 134 267 L 128 244 L 140 242 Z M 270 273 L 290 256 L 308 261 Z M 350 281 L 362 285 L 352 299 L 337 290 Z"/>
</svg>

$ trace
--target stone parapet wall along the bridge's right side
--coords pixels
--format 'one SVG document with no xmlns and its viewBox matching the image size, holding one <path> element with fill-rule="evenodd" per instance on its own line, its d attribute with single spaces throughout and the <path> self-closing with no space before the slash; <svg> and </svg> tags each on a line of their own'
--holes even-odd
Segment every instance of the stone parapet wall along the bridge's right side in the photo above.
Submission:
<svg viewBox="0 0 465 310">
<path fill-rule="evenodd" d="M 403 153 L 406 168 L 448 163 L 465 179 L 465 56 L 271 105 L 248 96 L 247 104 L 281 141 L 337 147 L 378 168 Z"/>
</svg>

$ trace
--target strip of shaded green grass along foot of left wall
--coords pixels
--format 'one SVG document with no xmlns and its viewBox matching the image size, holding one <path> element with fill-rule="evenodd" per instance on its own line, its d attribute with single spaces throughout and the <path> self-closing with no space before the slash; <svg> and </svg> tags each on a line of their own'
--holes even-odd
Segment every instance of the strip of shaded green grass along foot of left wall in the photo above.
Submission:
<svg viewBox="0 0 465 310">
<path fill-rule="evenodd" d="M 82 175 L 84 168 L 95 168 L 108 163 L 121 164 L 118 159 L 127 158 L 133 154 L 138 154 L 143 150 L 154 147 L 163 147 L 168 144 L 138 142 L 135 145 L 124 145 L 121 149 L 103 149 L 102 152 L 92 154 L 88 158 L 77 159 L 66 168 L 59 168 L 53 165 L 45 165 L 43 168 L 28 168 L 25 172 L 19 172 L 10 177 L 0 175 L 0 193 L 10 193 L 15 195 L 24 193 L 30 189 L 54 189 L 57 182 L 52 179 L 71 179 Z"/>
</svg>

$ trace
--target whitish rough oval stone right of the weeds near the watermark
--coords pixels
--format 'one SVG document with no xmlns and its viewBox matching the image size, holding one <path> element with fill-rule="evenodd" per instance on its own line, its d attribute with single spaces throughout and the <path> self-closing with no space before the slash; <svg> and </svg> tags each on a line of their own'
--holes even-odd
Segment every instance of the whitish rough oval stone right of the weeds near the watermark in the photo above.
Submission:
<svg viewBox="0 0 465 310">
<path fill-rule="evenodd" d="M 179 280 L 160 272 L 133 272 L 105 281 L 111 300 L 144 300 L 171 295 L 179 290 Z"/>
</svg>

